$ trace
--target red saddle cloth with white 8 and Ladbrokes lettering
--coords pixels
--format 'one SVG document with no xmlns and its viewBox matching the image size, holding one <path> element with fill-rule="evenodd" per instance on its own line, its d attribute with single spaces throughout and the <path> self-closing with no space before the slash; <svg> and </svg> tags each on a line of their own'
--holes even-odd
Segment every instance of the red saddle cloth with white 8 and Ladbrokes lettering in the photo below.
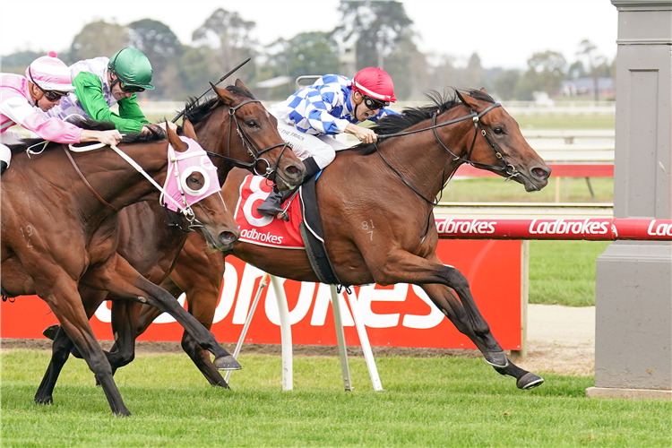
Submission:
<svg viewBox="0 0 672 448">
<path fill-rule="evenodd" d="M 297 198 L 289 205 L 289 222 L 262 216 L 256 211 L 271 190 L 271 185 L 267 185 L 266 179 L 261 176 L 249 175 L 240 185 L 240 197 L 236 206 L 240 241 L 258 246 L 304 249 L 304 242 L 298 231 L 298 225 L 303 218 Z"/>
</svg>

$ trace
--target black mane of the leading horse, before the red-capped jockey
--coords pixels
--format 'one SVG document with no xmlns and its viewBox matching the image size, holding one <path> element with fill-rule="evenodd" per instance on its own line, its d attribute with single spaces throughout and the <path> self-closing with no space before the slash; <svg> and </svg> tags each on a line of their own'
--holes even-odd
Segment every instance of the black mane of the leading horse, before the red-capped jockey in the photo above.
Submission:
<svg viewBox="0 0 672 448">
<path fill-rule="evenodd" d="M 474 99 L 480 99 L 489 103 L 495 102 L 490 95 L 481 90 L 461 89 L 460 92 Z M 425 96 L 432 101 L 432 105 L 420 108 L 404 108 L 401 111 L 401 115 L 385 116 L 376 125 L 372 126 L 371 129 L 378 135 L 401 133 L 413 125 L 418 125 L 418 123 L 430 119 L 437 111 L 437 115 L 440 115 L 446 110 L 462 104 L 460 98 L 457 96 L 457 90 L 452 90 L 452 94 L 444 91 L 443 95 L 436 90 L 429 90 L 425 92 Z M 360 143 L 354 146 L 353 149 L 358 151 L 359 154 L 367 156 L 376 151 L 376 145 L 375 143 Z"/>
</svg>

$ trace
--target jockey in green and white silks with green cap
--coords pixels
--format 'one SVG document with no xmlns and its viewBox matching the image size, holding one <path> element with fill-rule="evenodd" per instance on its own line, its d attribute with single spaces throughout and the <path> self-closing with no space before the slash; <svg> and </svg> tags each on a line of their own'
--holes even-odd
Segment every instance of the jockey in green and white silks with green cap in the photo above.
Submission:
<svg viewBox="0 0 672 448">
<path fill-rule="evenodd" d="M 148 132 L 150 122 L 138 106 L 136 94 L 152 90 L 150 60 L 137 48 L 122 48 L 112 56 L 94 57 L 70 65 L 73 85 L 57 108 L 47 112 L 62 120 L 68 116 L 84 116 L 98 121 L 111 121 L 121 133 Z M 118 115 L 109 108 L 118 104 Z M 170 124 L 173 129 L 177 126 Z M 164 127 L 163 124 L 159 124 Z"/>
</svg>

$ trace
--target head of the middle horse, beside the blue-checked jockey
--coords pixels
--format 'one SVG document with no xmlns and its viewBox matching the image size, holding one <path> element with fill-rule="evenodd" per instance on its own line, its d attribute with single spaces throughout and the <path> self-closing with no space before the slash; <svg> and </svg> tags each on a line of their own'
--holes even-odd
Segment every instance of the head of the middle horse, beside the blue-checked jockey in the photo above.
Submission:
<svg viewBox="0 0 672 448">
<path fill-rule="evenodd" d="M 240 80 L 226 89 L 211 86 L 217 97 L 203 105 L 207 111 L 199 117 L 202 121 L 195 129 L 201 135 L 203 148 L 224 156 L 222 159 L 228 162 L 219 164 L 224 168 L 220 170 L 220 180 L 228 169 L 237 166 L 275 181 L 280 190 L 300 185 L 306 168 L 282 140 L 276 118 L 261 101 L 254 99 Z M 187 117 L 193 115 L 187 110 Z"/>
</svg>

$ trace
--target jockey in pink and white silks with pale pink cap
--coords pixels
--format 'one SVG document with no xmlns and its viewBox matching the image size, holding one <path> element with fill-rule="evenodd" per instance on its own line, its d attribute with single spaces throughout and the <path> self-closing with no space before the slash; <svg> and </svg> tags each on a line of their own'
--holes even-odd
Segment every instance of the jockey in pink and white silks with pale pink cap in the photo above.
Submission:
<svg viewBox="0 0 672 448">
<path fill-rule="evenodd" d="M 46 118 L 35 108 L 46 112 L 54 108 L 69 91 L 74 90 L 72 78 L 56 53 L 41 56 L 26 69 L 26 76 L 0 73 L 0 174 L 9 167 L 12 152 L 6 144 L 21 142 L 23 136 L 8 131 L 21 125 L 50 142 L 101 142 L 116 144 L 121 134 L 116 130 L 89 131 L 57 118 Z"/>
</svg>

